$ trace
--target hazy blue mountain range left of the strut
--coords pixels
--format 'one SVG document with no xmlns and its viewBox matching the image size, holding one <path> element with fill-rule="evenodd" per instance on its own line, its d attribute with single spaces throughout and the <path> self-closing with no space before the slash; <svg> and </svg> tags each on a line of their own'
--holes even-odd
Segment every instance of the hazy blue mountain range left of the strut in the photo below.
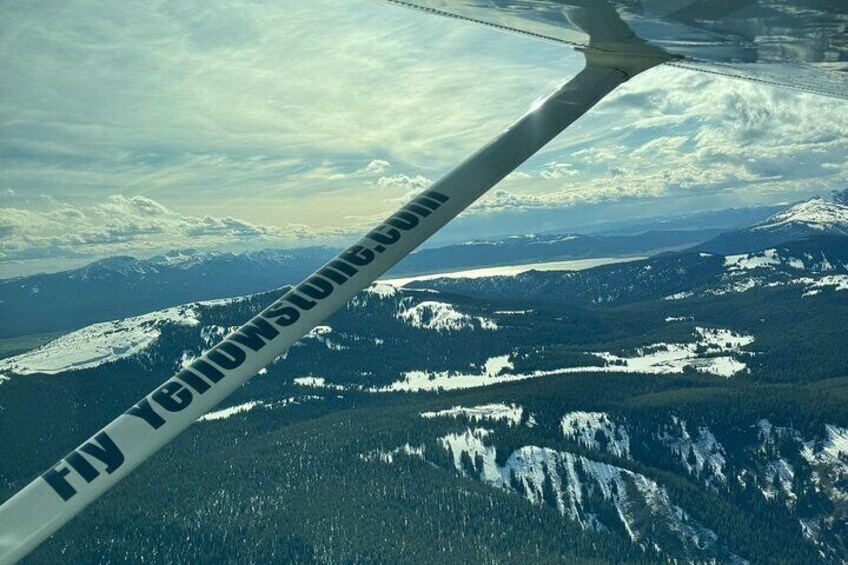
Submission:
<svg viewBox="0 0 848 565">
<path fill-rule="evenodd" d="M 68 331 L 191 300 L 294 284 L 333 255 L 327 247 L 238 254 L 182 250 L 6 279 L 0 281 L 0 310 L 10 323 L 0 325 L 0 338 Z"/>
</svg>

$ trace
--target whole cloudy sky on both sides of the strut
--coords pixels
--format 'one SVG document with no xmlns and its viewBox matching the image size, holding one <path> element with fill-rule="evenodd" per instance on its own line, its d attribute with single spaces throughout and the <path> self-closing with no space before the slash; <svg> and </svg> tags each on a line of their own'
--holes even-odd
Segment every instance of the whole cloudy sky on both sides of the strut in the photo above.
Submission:
<svg viewBox="0 0 848 565">
<path fill-rule="evenodd" d="M 352 241 L 582 64 L 372 0 L 7 5 L 0 277 Z M 437 241 L 826 194 L 845 131 L 848 101 L 653 69 Z"/>
</svg>

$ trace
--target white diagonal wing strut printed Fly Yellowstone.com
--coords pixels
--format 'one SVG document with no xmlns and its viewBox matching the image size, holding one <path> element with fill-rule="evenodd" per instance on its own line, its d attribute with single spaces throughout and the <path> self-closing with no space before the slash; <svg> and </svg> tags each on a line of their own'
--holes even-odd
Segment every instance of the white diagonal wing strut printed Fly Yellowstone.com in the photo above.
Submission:
<svg viewBox="0 0 848 565">
<path fill-rule="evenodd" d="M 615 87 L 662 59 L 587 53 L 587 61 L 497 139 L 0 506 L 0 564 L 26 556 Z"/>
</svg>

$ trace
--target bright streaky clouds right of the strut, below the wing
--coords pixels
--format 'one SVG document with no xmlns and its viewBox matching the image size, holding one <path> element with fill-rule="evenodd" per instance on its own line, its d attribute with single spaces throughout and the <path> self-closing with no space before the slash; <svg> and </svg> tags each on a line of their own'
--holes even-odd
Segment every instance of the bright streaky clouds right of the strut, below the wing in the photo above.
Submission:
<svg viewBox="0 0 848 565">
<path fill-rule="evenodd" d="M 474 213 L 634 200 L 729 205 L 848 185 L 848 103 L 659 68 L 604 100 Z M 507 195 L 510 195 L 509 197 Z M 680 212 L 690 211 L 681 209 Z"/>
</svg>

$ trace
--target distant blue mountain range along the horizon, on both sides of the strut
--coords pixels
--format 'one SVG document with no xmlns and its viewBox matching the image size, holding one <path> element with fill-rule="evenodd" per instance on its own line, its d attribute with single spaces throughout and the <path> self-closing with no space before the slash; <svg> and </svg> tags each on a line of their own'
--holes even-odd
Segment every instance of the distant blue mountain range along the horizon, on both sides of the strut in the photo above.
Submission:
<svg viewBox="0 0 848 565">
<path fill-rule="evenodd" d="M 689 218 L 697 229 L 681 229 L 680 221 L 670 219 L 657 220 L 655 229 L 640 233 L 531 234 L 426 248 L 399 263 L 390 276 L 650 256 L 686 248 L 711 253 L 756 251 L 809 236 L 848 233 L 848 207 L 839 203 L 839 196 L 832 202 L 814 198 L 730 232 L 704 226 L 726 226 L 740 218 L 758 217 L 763 210 L 705 212 Z M 0 325 L 0 338 L 69 331 L 192 300 L 296 284 L 336 251 L 327 247 L 241 254 L 181 250 L 145 260 L 111 257 L 70 271 L 2 280 L 0 314 L 10 323 Z M 71 296 L 73 300 L 68 300 Z"/>
</svg>

